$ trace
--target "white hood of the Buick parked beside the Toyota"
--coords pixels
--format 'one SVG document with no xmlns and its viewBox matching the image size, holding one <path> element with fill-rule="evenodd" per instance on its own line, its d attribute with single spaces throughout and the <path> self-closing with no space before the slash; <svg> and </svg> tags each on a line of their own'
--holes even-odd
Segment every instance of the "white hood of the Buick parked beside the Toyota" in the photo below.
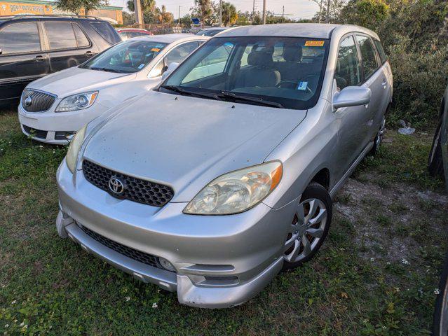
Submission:
<svg viewBox="0 0 448 336">
<path fill-rule="evenodd" d="M 35 80 L 28 87 L 50 92 L 62 98 L 70 94 L 100 90 L 110 85 L 131 80 L 135 76 L 135 73 L 114 73 L 81 69 L 74 66 Z"/>
</svg>

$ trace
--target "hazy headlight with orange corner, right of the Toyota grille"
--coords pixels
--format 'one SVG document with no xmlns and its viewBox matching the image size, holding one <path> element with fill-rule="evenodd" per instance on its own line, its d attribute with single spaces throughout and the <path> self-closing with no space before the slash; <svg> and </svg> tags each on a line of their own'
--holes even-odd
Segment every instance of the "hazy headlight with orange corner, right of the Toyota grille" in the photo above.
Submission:
<svg viewBox="0 0 448 336">
<path fill-rule="evenodd" d="M 219 176 L 189 202 L 184 214 L 229 215 L 246 211 L 278 186 L 282 174 L 281 162 L 272 161 Z"/>
</svg>

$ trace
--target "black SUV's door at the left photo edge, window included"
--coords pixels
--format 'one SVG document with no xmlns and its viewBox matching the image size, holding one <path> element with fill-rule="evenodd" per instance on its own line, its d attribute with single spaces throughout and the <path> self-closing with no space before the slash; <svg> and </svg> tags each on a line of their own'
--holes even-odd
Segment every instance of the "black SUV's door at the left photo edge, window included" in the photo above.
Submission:
<svg viewBox="0 0 448 336">
<path fill-rule="evenodd" d="M 37 22 L 14 22 L 0 28 L 0 103 L 20 98 L 32 80 L 48 73 Z"/>
</svg>

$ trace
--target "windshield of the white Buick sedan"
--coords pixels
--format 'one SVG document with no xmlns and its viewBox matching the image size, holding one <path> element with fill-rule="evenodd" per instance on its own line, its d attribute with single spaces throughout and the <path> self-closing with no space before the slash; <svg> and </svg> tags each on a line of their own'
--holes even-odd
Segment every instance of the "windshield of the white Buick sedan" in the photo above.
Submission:
<svg viewBox="0 0 448 336">
<path fill-rule="evenodd" d="M 128 40 L 105 50 L 81 67 L 118 73 L 137 72 L 147 66 L 166 45 L 147 40 Z"/>
</svg>

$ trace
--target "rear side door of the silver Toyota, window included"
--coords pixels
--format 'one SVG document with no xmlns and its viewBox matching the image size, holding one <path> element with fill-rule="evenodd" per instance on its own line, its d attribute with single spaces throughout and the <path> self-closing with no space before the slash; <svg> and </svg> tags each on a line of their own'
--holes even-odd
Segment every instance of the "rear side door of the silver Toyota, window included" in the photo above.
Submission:
<svg viewBox="0 0 448 336">
<path fill-rule="evenodd" d="M 362 144 L 367 146 L 379 130 L 384 114 L 384 89 L 383 89 L 383 71 L 381 71 L 379 57 L 376 55 L 376 50 L 372 42 L 372 38 L 367 35 L 356 35 L 358 48 L 361 55 L 362 72 L 364 73 L 364 80 L 366 87 L 372 90 L 372 98 L 369 103 L 369 115 L 364 125 L 365 139 Z"/>
</svg>

